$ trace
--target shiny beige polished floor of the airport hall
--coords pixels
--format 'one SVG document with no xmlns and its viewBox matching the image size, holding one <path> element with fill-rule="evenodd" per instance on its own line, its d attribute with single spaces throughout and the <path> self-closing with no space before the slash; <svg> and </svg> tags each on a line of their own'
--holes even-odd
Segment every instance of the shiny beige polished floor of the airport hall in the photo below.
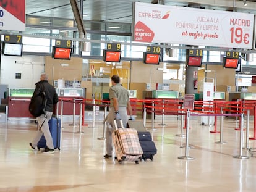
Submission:
<svg viewBox="0 0 256 192">
<path fill-rule="evenodd" d="M 103 159 L 105 141 L 98 139 L 103 137 L 102 121 L 96 121 L 95 128 L 92 121 L 86 122 L 84 133 L 74 133 L 79 127 L 70 123 L 63 120 L 61 151 L 54 154 L 30 149 L 28 143 L 36 133 L 32 121 L 1 123 L 0 191 L 256 191 L 256 158 L 246 149 L 242 156 L 249 159 L 233 157 L 240 154 L 236 120 L 224 119 L 226 144 L 215 143 L 220 133 L 210 133 L 213 127 L 190 120 L 187 156 L 193 160 L 178 158 L 186 156 L 181 148 L 186 140 L 176 136 L 181 133 L 177 118 L 166 118 L 165 127 L 157 118 L 155 131 L 147 120 L 158 153 L 153 161 L 139 164 Z M 256 141 L 250 140 L 249 147 L 256 148 Z"/>
</svg>

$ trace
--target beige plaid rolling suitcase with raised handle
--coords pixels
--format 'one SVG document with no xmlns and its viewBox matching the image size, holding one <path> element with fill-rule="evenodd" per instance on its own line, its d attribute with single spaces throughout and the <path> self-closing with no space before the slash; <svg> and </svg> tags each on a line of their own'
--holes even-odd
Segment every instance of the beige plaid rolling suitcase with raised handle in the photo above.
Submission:
<svg viewBox="0 0 256 192">
<path fill-rule="evenodd" d="M 122 120 L 114 120 L 114 127 L 116 130 L 112 133 L 112 138 L 119 164 L 122 161 L 131 161 L 138 164 L 143 151 L 137 131 L 132 128 L 124 128 Z"/>
</svg>

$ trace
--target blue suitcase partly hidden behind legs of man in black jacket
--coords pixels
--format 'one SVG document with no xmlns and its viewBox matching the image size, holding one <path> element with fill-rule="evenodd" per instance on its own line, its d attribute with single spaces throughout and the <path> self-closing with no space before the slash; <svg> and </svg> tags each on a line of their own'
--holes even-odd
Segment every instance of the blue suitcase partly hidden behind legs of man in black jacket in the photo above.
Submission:
<svg viewBox="0 0 256 192">
<path fill-rule="evenodd" d="M 54 149 L 61 150 L 61 119 L 52 117 L 48 123 L 51 137 L 53 138 Z M 37 148 L 38 150 L 40 150 L 40 148 L 47 148 L 45 136 L 41 137 L 40 141 L 37 144 Z"/>
</svg>

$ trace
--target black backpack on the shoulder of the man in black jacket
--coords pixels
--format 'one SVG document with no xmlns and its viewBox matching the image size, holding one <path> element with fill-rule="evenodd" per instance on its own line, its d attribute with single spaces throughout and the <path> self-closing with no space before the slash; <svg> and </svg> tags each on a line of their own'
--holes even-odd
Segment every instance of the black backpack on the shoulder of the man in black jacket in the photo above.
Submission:
<svg viewBox="0 0 256 192">
<path fill-rule="evenodd" d="M 29 112 L 34 117 L 39 117 L 41 114 L 45 114 L 45 107 L 46 107 L 46 94 L 45 91 L 41 91 L 40 94 L 31 98 L 29 104 Z"/>
</svg>

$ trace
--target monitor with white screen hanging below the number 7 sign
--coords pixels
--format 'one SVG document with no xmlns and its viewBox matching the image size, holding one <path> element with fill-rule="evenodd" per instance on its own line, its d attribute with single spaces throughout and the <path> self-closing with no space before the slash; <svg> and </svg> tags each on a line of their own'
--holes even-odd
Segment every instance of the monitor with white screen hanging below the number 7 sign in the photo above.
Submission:
<svg viewBox="0 0 256 192">
<path fill-rule="evenodd" d="M 5 56 L 22 56 L 23 44 L 2 43 L 2 54 Z"/>
</svg>

